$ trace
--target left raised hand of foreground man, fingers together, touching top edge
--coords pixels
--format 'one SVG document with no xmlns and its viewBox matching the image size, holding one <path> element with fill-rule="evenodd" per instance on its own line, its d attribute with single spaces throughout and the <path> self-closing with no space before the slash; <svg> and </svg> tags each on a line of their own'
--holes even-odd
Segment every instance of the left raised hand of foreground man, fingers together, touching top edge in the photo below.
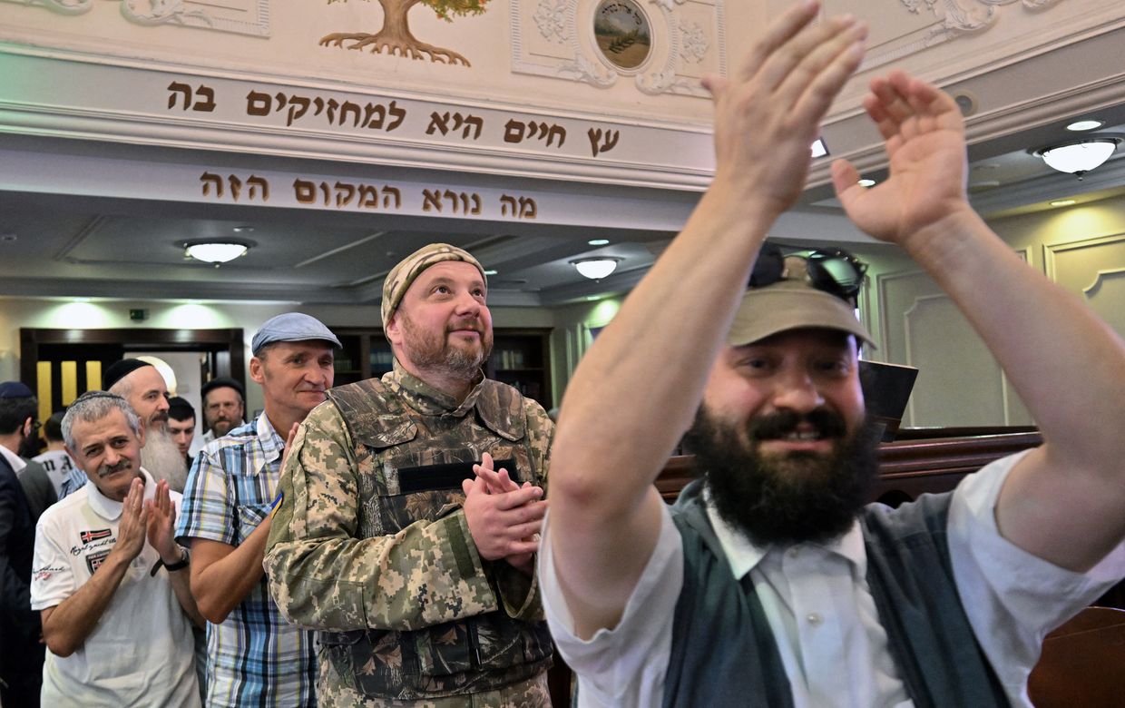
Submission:
<svg viewBox="0 0 1125 708">
<path fill-rule="evenodd" d="M 714 99 L 714 188 L 773 216 L 804 188 L 820 119 L 863 57 L 866 25 L 850 16 L 813 25 L 819 10 L 795 3 L 729 79 L 703 79 Z"/>
</svg>

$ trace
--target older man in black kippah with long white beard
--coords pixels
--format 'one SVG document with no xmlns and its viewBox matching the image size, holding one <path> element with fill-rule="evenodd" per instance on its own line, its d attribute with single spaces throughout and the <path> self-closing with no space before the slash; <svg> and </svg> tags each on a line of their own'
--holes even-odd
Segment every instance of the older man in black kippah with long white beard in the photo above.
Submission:
<svg viewBox="0 0 1125 708">
<path fill-rule="evenodd" d="M 101 377 L 102 387 L 125 398 L 144 422 L 146 441 L 141 463 L 156 480 L 168 480 L 173 492 L 183 492 L 188 467 L 168 430 L 168 384 L 156 367 L 141 359 L 115 361 Z M 58 499 L 82 489 L 87 476 L 81 467 L 63 481 Z"/>
</svg>

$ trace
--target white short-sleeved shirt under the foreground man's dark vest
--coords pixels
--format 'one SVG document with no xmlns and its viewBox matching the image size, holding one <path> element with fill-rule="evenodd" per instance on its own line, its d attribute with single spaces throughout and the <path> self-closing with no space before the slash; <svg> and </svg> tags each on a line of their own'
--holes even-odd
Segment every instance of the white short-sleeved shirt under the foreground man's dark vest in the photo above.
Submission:
<svg viewBox="0 0 1125 708">
<path fill-rule="evenodd" d="M 1026 454 L 1026 452 L 1024 452 Z M 950 554 L 962 604 L 1014 706 L 1030 706 L 1027 676 L 1047 631 L 1125 575 L 1125 544 L 1089 573 L 1060 568 L 999 535 L 993 508 L 1024 454 L 962 480 L 948 519 Z M 708 514 L 736 579 L 749 573 L 773 630 L 796 708 L 912 706 L 886 646 L 866 582 L 858 523 L 829 544 L 759 548 Z M 659 706 L 683 586 L 683 545 L 665 509 L 648 565 L 613 630 L 590 640 L 558 586 L 543 522 L 539 579 L 551 635 L 578 674 L 578 706 Z"/>
</svg>

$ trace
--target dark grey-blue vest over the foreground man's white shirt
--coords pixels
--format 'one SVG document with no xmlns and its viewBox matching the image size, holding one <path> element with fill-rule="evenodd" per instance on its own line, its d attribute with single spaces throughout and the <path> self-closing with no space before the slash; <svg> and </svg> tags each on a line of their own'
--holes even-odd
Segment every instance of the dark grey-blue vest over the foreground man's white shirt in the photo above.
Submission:
<svg viewBox="0 0 1125 708">
<path fill-rule="evenodd" d="M 734 579 L 702 501 L 703 481 L 673 508 L 684 547 L 664 705 L 776 708 L 793 705 L 785 669 L 749 576 Z M 915 706 L 1008 706 L 953 580 L 945 526 L 952 494 L 924 494 L 861 516 L 867 584 Z"/>
</svg>

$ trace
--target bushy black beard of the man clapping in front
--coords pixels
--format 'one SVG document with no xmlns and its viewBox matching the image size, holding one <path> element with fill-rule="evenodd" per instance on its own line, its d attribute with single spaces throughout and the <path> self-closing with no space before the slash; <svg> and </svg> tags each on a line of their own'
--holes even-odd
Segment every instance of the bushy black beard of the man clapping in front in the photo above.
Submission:
<svg viewBox="0 0 1125 708">
<path fill-rule="evenodd" d="M 783 438 L 801 422 L 835 439 L 832 452 L 760 452 L 762 440 Z M 848 434 L 844 420 L 826 409 L 756 418 L 739 436 L 700 407 L 684 442 L 695 454 L 719 516 L 757 546 L 827 541 L 844 534 L 879 473 L 874 424 L 867 421 Z"/>
</svg>

